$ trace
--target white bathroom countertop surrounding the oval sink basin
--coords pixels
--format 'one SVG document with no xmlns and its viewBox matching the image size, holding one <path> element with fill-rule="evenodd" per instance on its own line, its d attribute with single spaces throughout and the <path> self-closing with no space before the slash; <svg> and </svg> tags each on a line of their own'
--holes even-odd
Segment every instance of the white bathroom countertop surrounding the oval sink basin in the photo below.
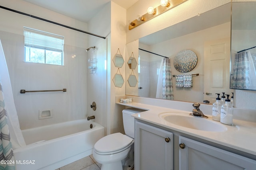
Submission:
<svg viewBox="0 0 256 170">
<path fill-rule="evenodd" d="M 218 121 L 213 121 L 212 117 L 207 115 L 209 116 L 208 118 L 209 120 L 213 121 L 214 123 L 220 123 L 221 125 L 226 126 L 227 130 L 222 132 L 201 131 L 201 130 L 196 130 L 196 129 L 175 125 L 159 117 L 159 114 L 164 112 L 176 112 L 178 114 L 188 114 L 188 113 L 192 113 L 192 111 L 191 112 L 182 111 L 177 109 L 170 109 L 166 107 L 158 107 L 158 106 L 152 106 L 152 105 L 135 103 L 135 102 L 132 102 L 130 104 L 116 102 L 116 104 L 146 110 L 140 113 L 133 114 L 132 116 L 134 116 L 136 119 L 140 119 L 143 121 L 147 121 L 149 123 L 160 125 L 168 129 L 172 129 L 187 135 L 192 135 L 200 139 L 204 139 L 213 143 L 218 143 L 220 145 L 224 145 L 226 147 L 240 150 L 242 152 L 247 152 L 249 154 L 253 154 L 256 156 L 256 147 L 254 147 L 255 141 L 256 141 L 256 123 L 254 122 L 233 119 L 233 123 L 234 123 L 233 125 L 224 125 Z M 205 118 L 198 117 L 198 119 L 205 119 Z"/>
</svg>

